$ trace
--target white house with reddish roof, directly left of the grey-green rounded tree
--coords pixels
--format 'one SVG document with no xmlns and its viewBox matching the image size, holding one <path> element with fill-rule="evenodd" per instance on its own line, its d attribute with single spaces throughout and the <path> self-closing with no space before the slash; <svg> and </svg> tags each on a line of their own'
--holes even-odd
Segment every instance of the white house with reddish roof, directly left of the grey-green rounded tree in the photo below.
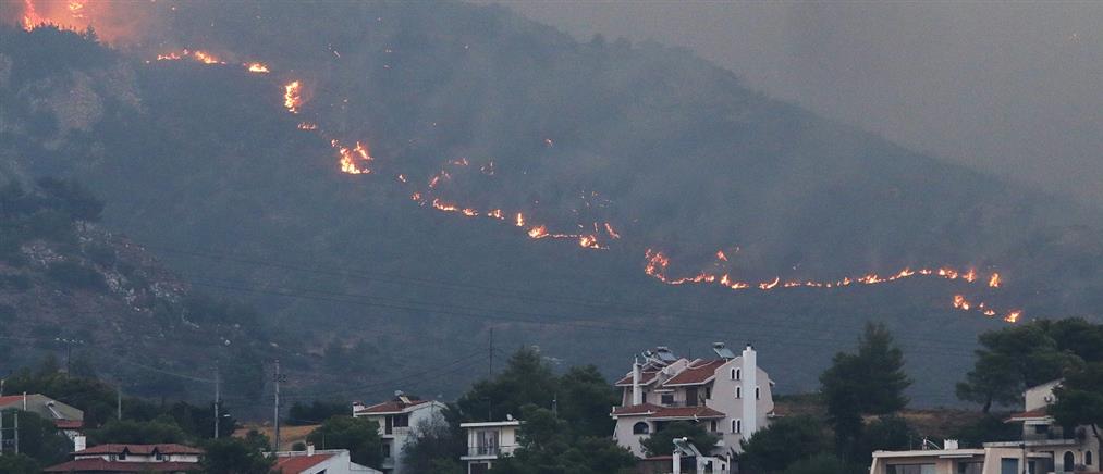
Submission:
<svg viewBox="0 0 1103 474">
<path fill-rule="evenodd" d="M 446 406 L 435 400 L 414 400 L 395 394 L 395 398 L 373 406 L 355 402 L 352 416 L 367 418 L 379 424 L 379 437 L 383 438 L 383 472 L 403 474 L 403 448 L 406 440 L 414 434 L 419 424 L 443 422 Z"/>
</svg>

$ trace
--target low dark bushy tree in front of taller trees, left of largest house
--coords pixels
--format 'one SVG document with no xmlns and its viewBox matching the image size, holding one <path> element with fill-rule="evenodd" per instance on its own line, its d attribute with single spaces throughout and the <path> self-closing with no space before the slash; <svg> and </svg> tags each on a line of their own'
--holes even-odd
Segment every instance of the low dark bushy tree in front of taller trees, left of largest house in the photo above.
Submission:
<svg viewBox="0 0 1103 474">
<path fill-rule="evenodd" d="M 493 474 L 633 472 L 635 457 L 608 437 L 571 437 L 568 423 L 546 408 L 527 405 L 520 446 L 512 456 L 499 460 Z"/>
</svg>

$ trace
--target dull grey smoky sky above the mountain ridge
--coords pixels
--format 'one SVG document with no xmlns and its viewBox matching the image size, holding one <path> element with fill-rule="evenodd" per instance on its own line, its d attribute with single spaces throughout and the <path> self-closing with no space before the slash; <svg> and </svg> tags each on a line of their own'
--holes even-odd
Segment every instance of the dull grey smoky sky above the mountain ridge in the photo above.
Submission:
<svg viewBox="0 0 1103 474">
<path fill-rule="evenodd" d="M 1103 1 L 500 3 L 580 40 L 688 47 L 774 97 L 1103 206 Z"/>
</svg>

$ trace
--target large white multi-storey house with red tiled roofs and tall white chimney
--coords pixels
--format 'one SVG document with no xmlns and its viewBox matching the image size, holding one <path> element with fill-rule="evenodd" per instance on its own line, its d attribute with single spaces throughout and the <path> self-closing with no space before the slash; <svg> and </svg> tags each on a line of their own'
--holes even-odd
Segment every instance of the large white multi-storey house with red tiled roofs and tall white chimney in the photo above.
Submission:
<svg viewBox="0 0 1103 474">
<path fill-rule="evenodd" d="M 773 381 L 759 368 L 751 345 L 739 356 L 722 343 L 713 349 L 718 358 L 690 360 L 666 347 L 636 357 L 632 371 L 617 381 L 622 388 L 621 405 L 611 413 L 617 443 L 642 457 L 641 440 L 684 420 L 720 437 L 715 446 L 697 446 L 702 453 L 727 460 L 739 453 L 739 442 L 769 423 Z"/>
</svg>

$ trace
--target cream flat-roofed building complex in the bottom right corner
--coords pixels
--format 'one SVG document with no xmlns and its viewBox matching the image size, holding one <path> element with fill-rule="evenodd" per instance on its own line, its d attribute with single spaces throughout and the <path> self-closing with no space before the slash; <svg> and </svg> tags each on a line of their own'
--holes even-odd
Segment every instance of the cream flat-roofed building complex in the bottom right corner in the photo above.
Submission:
<svg viewBox="0 0 1103 474">
<path fill-rule="evenodd" d="M 1091 427 L 1060 427 L 1047 411 L 1060 380 L 1028 388 L 1024 411 L 1008 423 L 1022 423 L 1020 441 L 984 443 L 960 449 L 947 440 L 944 449 L 877 451 L 870 474 L 1030 474 L 1099 472 L 1100 444 Z M 935 446 L 938 448 L 938 446 Z M 1025 467 L 1025 468 L 1024 468 Z"/>
</svg>

